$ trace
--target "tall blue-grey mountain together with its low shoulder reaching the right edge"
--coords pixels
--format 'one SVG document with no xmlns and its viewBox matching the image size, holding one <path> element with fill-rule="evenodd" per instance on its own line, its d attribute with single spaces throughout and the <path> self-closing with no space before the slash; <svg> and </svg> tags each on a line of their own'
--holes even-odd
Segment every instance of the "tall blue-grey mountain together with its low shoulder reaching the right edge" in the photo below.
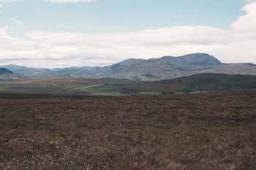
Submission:
<svg viewBox="0 0 256 170">
<path fill-rule="evenodd" d="M 128 59 L 76 76 L 154 81 L 203 73 L 256 75 L 256 66 L 252 63 L 226 64 L 212 55 L 195 53 L 181 57 L 165 56 L 148 60 Z"/>
</svg>

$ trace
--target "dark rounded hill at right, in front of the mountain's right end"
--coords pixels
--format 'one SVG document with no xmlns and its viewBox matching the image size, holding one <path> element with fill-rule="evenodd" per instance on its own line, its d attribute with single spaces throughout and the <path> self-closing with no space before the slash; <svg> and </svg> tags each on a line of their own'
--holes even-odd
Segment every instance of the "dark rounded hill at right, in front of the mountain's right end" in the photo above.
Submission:
<svg viewBox="0 0 256 170">
<path fill-rule="evenodd" d="M 173 85 L 174 91 L 196 92 L 217 90 L 256 90 L 256 76 L 241 74 L 195 74 L 174 80 L 155 82 L 165 90 L 166 85 Z M 171 90 L 171 89 L 170 89 Z"/>
</svg>

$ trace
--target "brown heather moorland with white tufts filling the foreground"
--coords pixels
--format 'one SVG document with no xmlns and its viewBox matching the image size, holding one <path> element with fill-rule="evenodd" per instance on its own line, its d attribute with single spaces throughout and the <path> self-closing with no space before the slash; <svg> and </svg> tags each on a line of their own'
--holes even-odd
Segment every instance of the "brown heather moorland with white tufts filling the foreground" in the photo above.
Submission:
<svg viewBox="0 0 256 170">
<path fill-rule="evenodd" d="M 256 93 L 0 96 L 0 169 L 255 170 Z"/>
</svg>

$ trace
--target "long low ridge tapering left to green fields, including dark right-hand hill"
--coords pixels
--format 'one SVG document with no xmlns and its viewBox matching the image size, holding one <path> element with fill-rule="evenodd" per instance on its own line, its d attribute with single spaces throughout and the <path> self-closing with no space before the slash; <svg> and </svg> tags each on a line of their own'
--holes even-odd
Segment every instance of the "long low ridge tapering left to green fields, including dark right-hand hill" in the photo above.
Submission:
<svg viewBox="0 0 256 170">
<path fill-rule="evenodd" d="M 120 91 L 121 93 L 203 93 L 232 90 L 256 90 L 256 76 L 230 74 L 195 74 L 173 80 L 127 82 L 103 85 L 88 91 Z"/>
</svg>

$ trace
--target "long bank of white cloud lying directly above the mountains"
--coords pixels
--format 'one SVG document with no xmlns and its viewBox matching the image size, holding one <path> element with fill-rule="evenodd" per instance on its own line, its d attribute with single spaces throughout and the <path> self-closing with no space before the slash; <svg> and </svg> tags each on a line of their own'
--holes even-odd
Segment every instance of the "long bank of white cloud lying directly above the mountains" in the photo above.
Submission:
<svg viewBox="0 0 256 170">
<path fill-rule="evenodd" d="M 223 62 L 256 63 L 256 3 L 230 28 L 175 26 L 124 34 L 32 31 L 17 39 L 0 28 L 0 63 L 29 66 L 93 66 L 126 58 L 211 53 Z"/>
</svg>

